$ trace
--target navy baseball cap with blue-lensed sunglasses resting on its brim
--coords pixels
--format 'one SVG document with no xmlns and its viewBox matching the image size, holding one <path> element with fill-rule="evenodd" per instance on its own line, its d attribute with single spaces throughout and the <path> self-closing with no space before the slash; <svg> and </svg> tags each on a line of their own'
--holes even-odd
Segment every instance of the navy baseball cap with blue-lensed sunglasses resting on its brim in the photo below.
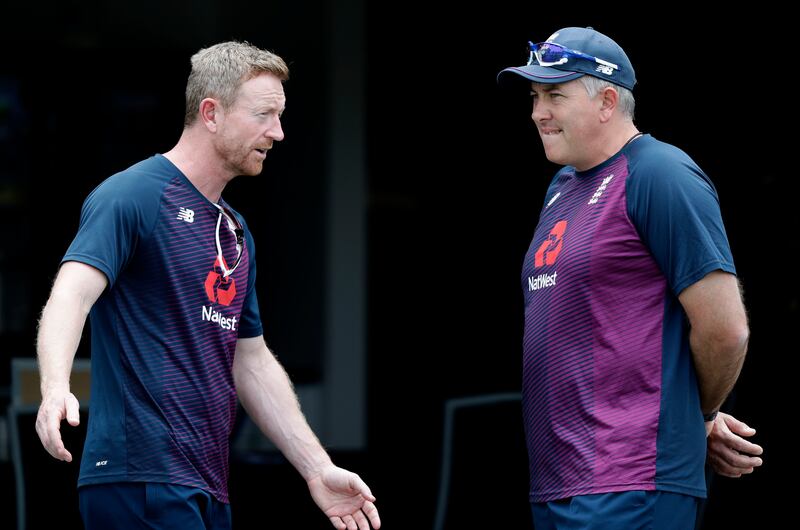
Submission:
<svg viewBox="0 0 800 530">
<path fill-rule="evenodd" d="M 517 74 L 536 83 L 566 83 L 584 75 L 633 90 L 636 73 L 619 44 L 592 28 L 564 28 L 545 42 L 528 43 L 525 66 L 506 68 L 497 75 Z"/>
</svg>

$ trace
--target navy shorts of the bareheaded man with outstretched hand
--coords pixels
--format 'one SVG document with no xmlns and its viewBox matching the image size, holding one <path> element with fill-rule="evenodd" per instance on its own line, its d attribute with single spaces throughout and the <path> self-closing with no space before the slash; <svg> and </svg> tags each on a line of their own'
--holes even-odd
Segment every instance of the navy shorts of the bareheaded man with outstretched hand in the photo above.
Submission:
<svg viewBox="0 0 800 530">
<path fill-rule="evenodd" d="M 230 530 L 230 505 L 199 488 L 119 482 L 78 488 L 86 530 Z"/>
</svg>

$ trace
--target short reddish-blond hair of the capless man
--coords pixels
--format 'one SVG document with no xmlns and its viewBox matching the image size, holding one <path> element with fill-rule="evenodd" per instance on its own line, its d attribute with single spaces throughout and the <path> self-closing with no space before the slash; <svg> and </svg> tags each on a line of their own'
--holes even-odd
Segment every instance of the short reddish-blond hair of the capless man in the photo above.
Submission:
<svg viewBox="0 0 800 530">
<path fill-rule="evenodd" d="M 186 82 L 183 125 L 188 127 L 195 122 L 203 99 L 218 99 L 223 107 L 229 107 L 236 101 L 242 83 L 265 73 L 281 81 L 289 79 L 289 67 L 283 59 L 248 42 L 222 42 L 195 53 Z"/>
</svg>

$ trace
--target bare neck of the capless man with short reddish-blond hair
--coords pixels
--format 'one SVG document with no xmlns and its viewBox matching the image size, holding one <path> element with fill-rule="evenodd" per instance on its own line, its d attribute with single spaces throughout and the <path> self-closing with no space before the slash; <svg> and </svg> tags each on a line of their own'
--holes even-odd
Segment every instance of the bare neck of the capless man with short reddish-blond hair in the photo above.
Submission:
<svg viewBox="0 0 800 530">
<path fill-rule="evenodd" d="M 225 170 L 216 153 L 214 145 L 207 137 L 198 133 L 195 127 L 183 130 L 178 143 L 164 153 L 189 182 L 209 201 L 216 203 L 222 196 L 225 185 L 233 176 Z"/>
</svg>

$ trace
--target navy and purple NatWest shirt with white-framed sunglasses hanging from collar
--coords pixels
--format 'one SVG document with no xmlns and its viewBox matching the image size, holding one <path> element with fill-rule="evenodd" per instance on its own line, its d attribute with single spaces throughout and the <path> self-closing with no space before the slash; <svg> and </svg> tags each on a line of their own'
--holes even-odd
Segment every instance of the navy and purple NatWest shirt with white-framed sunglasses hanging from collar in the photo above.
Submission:
<svg viewBox="0 0 800 530">
<path fill-rule="evenodd" d="M 226 206 L 220 200 L 220 205 Z M 79 486 L 166 482 L 228 502 L 228 439 L 236 412 L 238 338 L 262 334 L 255 248 L 244 220 L 235 271 L 224 277 L 220 210 L 156 155 L 86 199 L 63 258 L 102 271 L 91 310 L 92 388 Z M 222 259 L 236 234 L 223 217 Z"/>
</svg>

